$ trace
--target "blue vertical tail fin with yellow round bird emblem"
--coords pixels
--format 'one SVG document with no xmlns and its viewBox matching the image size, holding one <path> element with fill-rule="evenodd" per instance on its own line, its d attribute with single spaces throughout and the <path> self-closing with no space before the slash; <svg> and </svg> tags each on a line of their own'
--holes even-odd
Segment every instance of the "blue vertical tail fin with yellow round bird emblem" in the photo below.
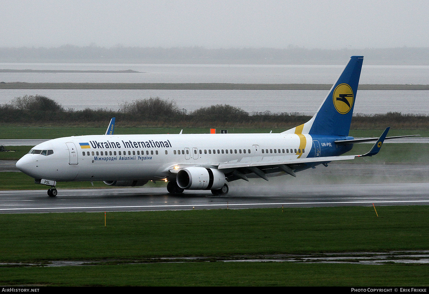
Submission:
<svg viewBox="0 0 429 294">
<path fill-rule="evenodd" d="M 363 56 L 352 56 L 316 114 L 285 133 L 348 136 Z"/>
</svg>

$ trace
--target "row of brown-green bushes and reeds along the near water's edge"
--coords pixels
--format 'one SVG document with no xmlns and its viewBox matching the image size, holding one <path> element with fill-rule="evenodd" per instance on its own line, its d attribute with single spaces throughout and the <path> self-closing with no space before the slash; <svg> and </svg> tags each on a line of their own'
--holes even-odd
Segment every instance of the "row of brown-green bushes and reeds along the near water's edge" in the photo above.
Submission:
<svg viewBox="0 0 429 294">
<path fill-rule="evenodd" d="M 288 129 L 308 121 L 311 116 L 302 113 L 271 113 L 270 111 L 248 113 L 239 107 L 217 104 L 188 112 L 174 101 L 159 97 L 125 102 L 119 110 L 64 109 L 56 101 L 40 95 L 26 95 L 0 105 L 3 123 L 38 126 L 105 126 L 110 118 L 124 127 L 252 127 Z M 379 129 L 380 126 L 395 129 L 428 129 L 429 116 L 424 114 L 357 113 L 352 119 L 352 129 Z"/>
</svg>

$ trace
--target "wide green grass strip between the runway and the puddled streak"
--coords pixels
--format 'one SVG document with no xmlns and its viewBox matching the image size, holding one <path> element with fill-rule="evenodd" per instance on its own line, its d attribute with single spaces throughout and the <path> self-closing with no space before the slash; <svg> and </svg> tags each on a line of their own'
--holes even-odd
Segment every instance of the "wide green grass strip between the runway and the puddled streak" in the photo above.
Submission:
<svg viewBox="0 0 429 294">
<path fill-rule="evenodd" d="M 48 197 L 45 200 L 55 201 Z M 427 250 L 429 206 L 0 214 L 0 261 Z"/>
</svg>

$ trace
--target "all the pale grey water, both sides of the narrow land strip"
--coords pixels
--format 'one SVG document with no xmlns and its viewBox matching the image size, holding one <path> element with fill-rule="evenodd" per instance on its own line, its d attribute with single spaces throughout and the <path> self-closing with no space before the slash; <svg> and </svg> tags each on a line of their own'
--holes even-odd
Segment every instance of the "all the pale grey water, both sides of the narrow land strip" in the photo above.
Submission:
<svg viewBox="0 0 429 294">
<path fill-rule="evenodd" d="M 333 83 L 344 65 L 260 64 L 49 64 L 0 63 L 0 69 L 135 70 L 139 73 L 0 73 L 3 82 L 27 83 Z M 429 66 L 364 65 L 361 84 L 429 84 Z M 320 90 L 0 90 L 0 104 L 24 95 L 45 95 L 64 108 L 117 110 L 124 102 L 160 97 L 188 111 L 230 104 L 245 111 L 312 115 L 328 91 Z M 429 114 L 429 91 L 365 91 L 355 113 Z"/>
</svg>

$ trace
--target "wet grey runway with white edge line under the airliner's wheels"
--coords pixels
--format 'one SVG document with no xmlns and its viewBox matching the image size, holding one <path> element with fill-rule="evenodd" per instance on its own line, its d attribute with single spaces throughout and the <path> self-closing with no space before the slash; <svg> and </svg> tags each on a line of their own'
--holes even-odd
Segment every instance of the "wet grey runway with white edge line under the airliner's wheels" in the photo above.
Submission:
<svg viewBox="0 0 429 294">
<path fill-rule="evenodd" d="M 231 183 L 222 197 L 201 191 L 173 196 L 166 188 L 144 187 L 59 190 L 57 197 L 45 190 L 0 191 L 0 213 L 429 204 L 429 183 L 264 186 Z"/>
</svg>

